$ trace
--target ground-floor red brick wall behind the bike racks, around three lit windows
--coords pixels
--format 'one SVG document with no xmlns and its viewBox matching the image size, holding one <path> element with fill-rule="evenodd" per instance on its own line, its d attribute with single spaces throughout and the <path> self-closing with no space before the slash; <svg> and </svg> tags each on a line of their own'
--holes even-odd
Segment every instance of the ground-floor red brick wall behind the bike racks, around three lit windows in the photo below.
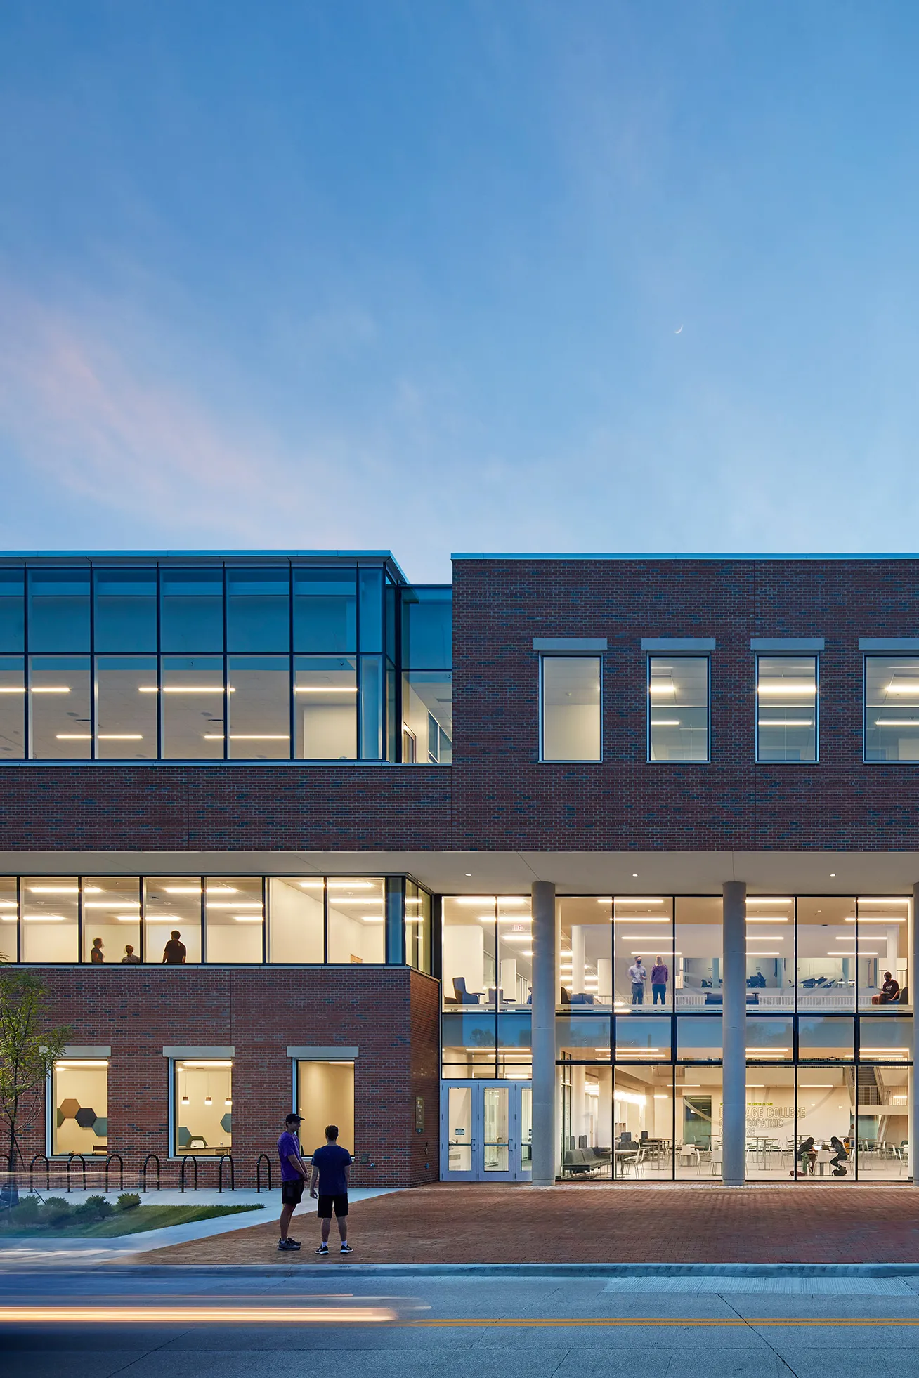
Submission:
<svg viewBox="0 0 919 1378">
<path fill-rule="evenodd" d="M 415 1186 L 437 1180 L 438 985 L 408 967 L 98 967 L 47 969 L 54 1017 L 80 1046 L 112 1047 L 109 1151 L 136 1182 L 158 1153 L 164 1185 L 168 1140 L 167 1046 L 234 1046 L 233 1158 L 237 1185 L 254 1185 L 255 1158 L 267 1152 L 277 1180 L 276 1141 L 291 1109 L 288 1046 L 360 1049 L 354 1067 L 355 1186 Z M 423 1096 L 431 1153 L 415 1134 Z M 44 1120 L 22 1137 L 29 1162 L 44 1151 Z M 304 1145 L 306 1146 L 306 1145 Z M 369 1162 L 361 1163 L 366 1153 Z M 430 1170 L 424 1163 L 430 1162 Z M 373 1164 L 373 1166 L 371 1166 Z M 190 1180 L 190 1178 L 189 1178 Z M 216 1164 L 200 1160 L 201 1185 Z"/>
</svg>

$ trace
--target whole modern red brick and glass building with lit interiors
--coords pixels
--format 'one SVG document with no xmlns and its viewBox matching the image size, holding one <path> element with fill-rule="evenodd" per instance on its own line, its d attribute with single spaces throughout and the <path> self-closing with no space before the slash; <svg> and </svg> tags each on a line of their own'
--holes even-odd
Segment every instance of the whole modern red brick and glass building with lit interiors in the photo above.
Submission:
<svg viewBox="0 0 919 1378">
<path fill-rule="evenodd" d="M 293 1105 L 368 1185 L 911 1181 L 918 594 L 3 557 L 0 947 L 73 1029 L 23 1159 L 248 1182 Z"/>
</svg>

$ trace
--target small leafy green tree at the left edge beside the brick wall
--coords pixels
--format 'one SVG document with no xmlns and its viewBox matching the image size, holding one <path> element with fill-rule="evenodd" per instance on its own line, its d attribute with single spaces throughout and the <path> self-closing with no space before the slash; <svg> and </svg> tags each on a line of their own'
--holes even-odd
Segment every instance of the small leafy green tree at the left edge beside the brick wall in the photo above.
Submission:
<svg viewBox="0 0 919 1378">
<path fill-rule="evenodd" d="M 23 1113 L 39 1108 L 48 1073 L 70 1036 L 69 1028 L 51 1025 L 40 977 L 0 969 L 0 1120 L 7 1133 L 7 1206 L 19 1199 L 17 1129 Z"/>
</svg>

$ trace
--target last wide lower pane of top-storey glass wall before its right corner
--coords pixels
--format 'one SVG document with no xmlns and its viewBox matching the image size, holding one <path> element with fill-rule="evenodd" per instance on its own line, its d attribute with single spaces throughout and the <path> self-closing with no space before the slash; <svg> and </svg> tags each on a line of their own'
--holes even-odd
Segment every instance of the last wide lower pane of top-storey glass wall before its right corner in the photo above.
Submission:
<svg viewBox="0 0 919 1378">
<path fill-rule="evenodd" d="M 293 722 L 299 759 L 355 759 L 357 661 L 354 656 L 295 656 Z"/>
</svg>

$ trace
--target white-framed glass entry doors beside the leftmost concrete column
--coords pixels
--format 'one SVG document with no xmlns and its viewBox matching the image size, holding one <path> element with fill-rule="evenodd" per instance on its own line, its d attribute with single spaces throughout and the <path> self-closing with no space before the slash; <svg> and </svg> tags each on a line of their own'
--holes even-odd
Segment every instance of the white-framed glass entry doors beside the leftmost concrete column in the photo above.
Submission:
<svg viewBox="0 0 919 1378">
<path fill-rule="evenodd" d="M 517 1182 L 532 1175 L 530 1082 L 441 1082 L 445 1181 Z"/>
</svg>

